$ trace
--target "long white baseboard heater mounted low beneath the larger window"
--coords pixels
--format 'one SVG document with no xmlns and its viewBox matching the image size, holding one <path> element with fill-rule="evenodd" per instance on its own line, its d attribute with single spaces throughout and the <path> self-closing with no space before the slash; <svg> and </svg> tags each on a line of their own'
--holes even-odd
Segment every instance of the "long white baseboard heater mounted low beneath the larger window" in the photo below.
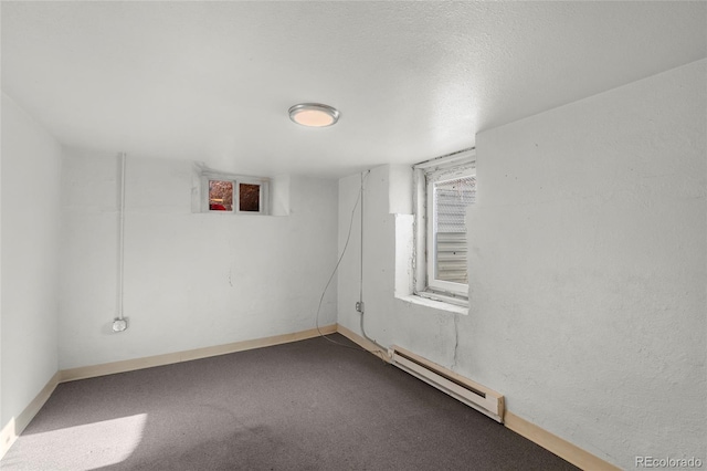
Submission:
<svg viewBox="0 0 707 471">
<path fill-rule="evenodd" d="M 389 355 L 400 369 L 503 423 L 503 395 L 398 346 Z"/>
</svg>

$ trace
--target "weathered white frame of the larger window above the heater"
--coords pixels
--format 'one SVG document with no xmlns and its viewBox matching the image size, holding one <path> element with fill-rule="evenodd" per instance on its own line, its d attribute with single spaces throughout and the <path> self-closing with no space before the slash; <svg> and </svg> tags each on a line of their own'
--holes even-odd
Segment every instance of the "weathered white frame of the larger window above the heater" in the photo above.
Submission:
<svg viewBox="0 0 707 471">
<path fill-rule="evenodd" d="M 435 279 L 434 185 L 476 175 L 474 149 L 413 166 L 415 191 L 414 293 L 451 304 L 468 305 L 468 284 Z"/>
</svg>

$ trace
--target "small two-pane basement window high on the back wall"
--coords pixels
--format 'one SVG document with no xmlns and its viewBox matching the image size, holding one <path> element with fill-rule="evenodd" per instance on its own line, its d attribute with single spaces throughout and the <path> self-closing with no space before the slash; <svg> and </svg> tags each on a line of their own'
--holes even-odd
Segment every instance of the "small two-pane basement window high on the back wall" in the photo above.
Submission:
<svg viewBox="0 0 707 471">
<path fill-rule="evenodd" d="M 202 176 L 202 211 L 267 214 L 267 178 L 223 174 Z"/>
</svg>

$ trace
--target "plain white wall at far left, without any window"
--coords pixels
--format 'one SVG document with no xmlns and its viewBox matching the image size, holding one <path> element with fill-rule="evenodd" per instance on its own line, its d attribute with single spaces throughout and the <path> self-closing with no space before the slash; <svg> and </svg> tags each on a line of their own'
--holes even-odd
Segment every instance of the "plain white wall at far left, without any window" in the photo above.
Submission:
<svg viewBox="0 0 707 471">
<path fill-rule="evenodd" d="M 57 369 L 61 146 L 2 94 L 1 420 Z"/>
</svg>

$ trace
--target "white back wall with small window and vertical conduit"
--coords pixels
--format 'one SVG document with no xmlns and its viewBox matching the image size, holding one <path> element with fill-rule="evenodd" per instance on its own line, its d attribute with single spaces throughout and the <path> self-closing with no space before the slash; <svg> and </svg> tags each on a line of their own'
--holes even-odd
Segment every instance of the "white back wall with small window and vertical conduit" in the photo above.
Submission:
<svg viewBox="0 0 707 471">
<path fill-rule="evenodd" d="M 315 327 L 336 263 L 335 180 L 276 178 L 278 212 L 289 216 L 193 213 L 193 163 L 128 156 L 129 327 L 114 334 L 118 156 L 71 149 L 64 161 L 62 369 Z M 335 322 L 329 290 L 319 325 Z"/>
</svg>

